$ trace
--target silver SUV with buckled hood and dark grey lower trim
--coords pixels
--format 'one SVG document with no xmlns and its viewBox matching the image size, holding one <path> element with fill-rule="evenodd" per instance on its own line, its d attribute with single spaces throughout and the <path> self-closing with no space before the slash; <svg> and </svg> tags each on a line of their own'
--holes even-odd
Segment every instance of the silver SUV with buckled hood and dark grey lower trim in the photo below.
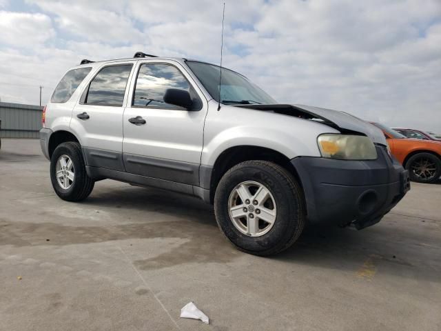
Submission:
<svg viewBox="0 0 441 331">
<path fill-rule="evenodd" d="M 69 70 L 43 112 L 41 148 L 61 199 L 81 201 L 102 179 L 194 195 L 258 255 L 288 248 L 307 221 L 377 223 L 409 190 L 371 124 L 276 103 L 227 68 L 142 52 Z"/>
</svg>

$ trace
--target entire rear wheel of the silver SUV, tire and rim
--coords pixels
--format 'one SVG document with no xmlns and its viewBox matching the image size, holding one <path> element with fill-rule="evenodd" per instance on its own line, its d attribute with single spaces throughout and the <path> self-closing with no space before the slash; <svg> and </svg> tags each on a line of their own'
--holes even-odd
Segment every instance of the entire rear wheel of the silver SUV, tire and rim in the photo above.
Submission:
<svg viewBox="0 0 441 331">
<path fill-rule="evenodd" d="M 79 143 L 68 141 L 55 148 L 50 159 L 50 180 L 57 195 L 66 201 L 81 201 L 94 188 L 94 181 L 85 171 Z"/>
</svg>

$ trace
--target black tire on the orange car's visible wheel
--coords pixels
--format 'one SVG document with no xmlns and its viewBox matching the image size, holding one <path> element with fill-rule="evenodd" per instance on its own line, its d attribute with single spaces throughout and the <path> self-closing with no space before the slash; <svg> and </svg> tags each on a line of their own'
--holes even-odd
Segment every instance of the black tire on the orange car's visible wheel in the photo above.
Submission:
<svg viewBox="0 0 441 331">
<path fill-rule="evenodd" d="M 427 161 L 427 163 L 425 163 L 425 161 Z M 421 162 L 422 164 L 425 163 L 429 165 L 430 168 L 427 167 L 427 169 L 435 169 L 432 171 L 433 173 L 430 175 L 429 172 L 421 173 L 417 168 L 418 164 L 421 164 Z M 412 181 L 416 181 L 417 183 L 435 183 L 441 176 L 441 160 L 439 157 L 431 153 L 418 153 L 413 155 L 407 161 L 406 169 L 409 170 L 409 177 Z"/>
</svg>

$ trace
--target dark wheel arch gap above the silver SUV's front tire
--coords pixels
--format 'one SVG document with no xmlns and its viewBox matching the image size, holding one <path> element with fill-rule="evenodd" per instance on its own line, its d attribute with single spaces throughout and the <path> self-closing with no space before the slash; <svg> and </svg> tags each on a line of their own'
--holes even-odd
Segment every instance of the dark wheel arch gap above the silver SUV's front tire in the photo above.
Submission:
<svg viewBox="0 0 441 331">
<path fill-rule="evenodd" d="M 214 193 L 216 192 L 217 185 L 225 172 L 238 163 L 252 160 L 270 161 L 280 165 L 297 179 L 300 187 L 303 190 L 300 176 L 298 175 L 294 165 L 290 162 L 290 159 L 285 154 L 271 148 L 240 145 L 227 148 L 218 155 L 216 161 L 214 162 L 209 177 L 210 203 L 214 202 Z"/>
</svg>

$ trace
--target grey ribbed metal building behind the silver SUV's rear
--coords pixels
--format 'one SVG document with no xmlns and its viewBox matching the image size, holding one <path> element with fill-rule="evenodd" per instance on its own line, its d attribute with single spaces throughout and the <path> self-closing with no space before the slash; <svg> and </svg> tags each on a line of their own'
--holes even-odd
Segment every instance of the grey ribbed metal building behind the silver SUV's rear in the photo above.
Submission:
<svg viewBox="0 0 441 331">
<path fill-rule="evenodd" d="M 39 138 L 43 107 L 0 102 L 0 138 Z"/>
</svg>

